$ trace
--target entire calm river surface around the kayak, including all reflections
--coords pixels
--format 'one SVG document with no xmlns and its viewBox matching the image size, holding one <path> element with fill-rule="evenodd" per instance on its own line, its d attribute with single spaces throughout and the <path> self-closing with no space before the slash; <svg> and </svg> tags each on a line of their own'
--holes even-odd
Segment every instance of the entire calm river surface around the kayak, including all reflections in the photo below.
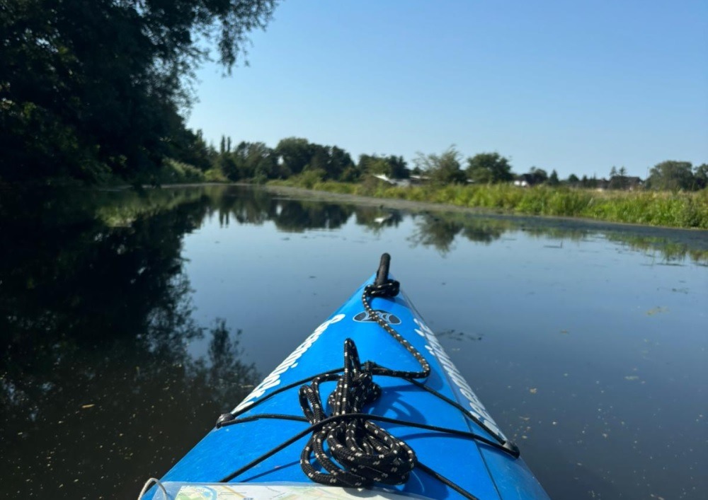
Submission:
<svg viewBox="0 0 708 500">
<path fill-rule="evenodd" d="M 134 498 L 384 251 L 552 497 L 708 496 L 706 232 L 244 187 L 35 194 L 0 192 L 8 497 Z"/>
</svg>

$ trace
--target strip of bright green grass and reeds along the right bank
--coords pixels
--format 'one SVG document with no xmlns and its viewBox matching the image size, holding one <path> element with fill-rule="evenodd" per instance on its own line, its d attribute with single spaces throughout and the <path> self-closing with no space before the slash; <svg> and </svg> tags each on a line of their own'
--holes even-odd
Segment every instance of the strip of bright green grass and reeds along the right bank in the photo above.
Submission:
<svg viewBox="0 0 708 500">
<path fill-rule="evenodd" d="M 603 221 L 708 229 L 708 190 L 700 192 L 595 191 L 569 187 L 512 185 L 421 185 L 392 187 L 377 180 L 361 183 L 292 178 L 274 185 L 358 194 L 414 202 L 452 204 L 514 214 L 588 217 Z"/>
</svg>

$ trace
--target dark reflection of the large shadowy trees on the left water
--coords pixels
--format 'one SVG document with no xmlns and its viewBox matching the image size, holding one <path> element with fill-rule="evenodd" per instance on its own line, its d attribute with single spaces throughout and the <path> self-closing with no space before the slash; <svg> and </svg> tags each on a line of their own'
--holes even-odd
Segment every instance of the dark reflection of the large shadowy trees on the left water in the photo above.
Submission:
<svg viewBox="0 0 708 500">
<path fill-rule="evenodd" d="M 240 332 L 193 319 L 181 239 L 210 198 L 163 192 L 160 207 L 126 193 L 121 207 L 113 196 L 0 202 L 7 491 L 133 495 L 257 381 Z M 204 337 L 208 354 L 194 359 L 188 345 Z"/>
</svg>

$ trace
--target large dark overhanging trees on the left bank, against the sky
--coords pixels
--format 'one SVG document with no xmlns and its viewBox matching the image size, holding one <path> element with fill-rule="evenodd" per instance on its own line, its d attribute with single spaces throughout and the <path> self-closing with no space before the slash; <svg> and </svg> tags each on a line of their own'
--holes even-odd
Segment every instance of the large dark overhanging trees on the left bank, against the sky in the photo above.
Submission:
<svg viewBox="0 0 708 500">
<path fill-rule="evenodd" d="M 190 76 L 227 71 L 275 0 L 0 1 L 0 179 L 130 178 L 207 167 L 185 128 Z"/>
</svg>

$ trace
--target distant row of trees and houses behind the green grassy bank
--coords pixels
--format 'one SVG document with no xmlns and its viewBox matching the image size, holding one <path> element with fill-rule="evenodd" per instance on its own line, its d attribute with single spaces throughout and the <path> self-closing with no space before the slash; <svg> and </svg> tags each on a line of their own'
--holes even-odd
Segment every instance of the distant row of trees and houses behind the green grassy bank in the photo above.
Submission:
<svg viewBox="0 0 708 500">
<path fill-rule="evenodd" d="M 200 133 L 197 136 L 202 140 Z M 454 146 L 439 154 L 418 153 L 412 169 L 402 156 L 362 154 L 354 162 L 338 146 L 323 146 L 299 137 L 282 139 L 275 148 L 262 142 L 241 142 L 232 149 L 232 140 L 223 136 L 219 151 L 212 146 L 204 148 L 200 168 L 211 169 L 213 178 L 232 181 L 264 182 L 298 176 L 305 185 L 312 185 L 322 180 L 357 182 L 366 175 L 378 175 L 390 180 L 414 178 L 437 185 L 516 182 L 522 186 L 565 185 L 609 190 L 700 190 L 708 185 L 708 164 L 694 168 L 690 162 L 681 161 L 658 163 L 646 180 L 627 175 L 624 167 L 612 167 L 609 179 L 595 175 L 578 178 L 575 174 L 561 179 L 556 170 L 549 174 L 535 166 L 527 173 L 514 173 L 510 159 L 497 152 L 464 158 Z"/>
</svg>

